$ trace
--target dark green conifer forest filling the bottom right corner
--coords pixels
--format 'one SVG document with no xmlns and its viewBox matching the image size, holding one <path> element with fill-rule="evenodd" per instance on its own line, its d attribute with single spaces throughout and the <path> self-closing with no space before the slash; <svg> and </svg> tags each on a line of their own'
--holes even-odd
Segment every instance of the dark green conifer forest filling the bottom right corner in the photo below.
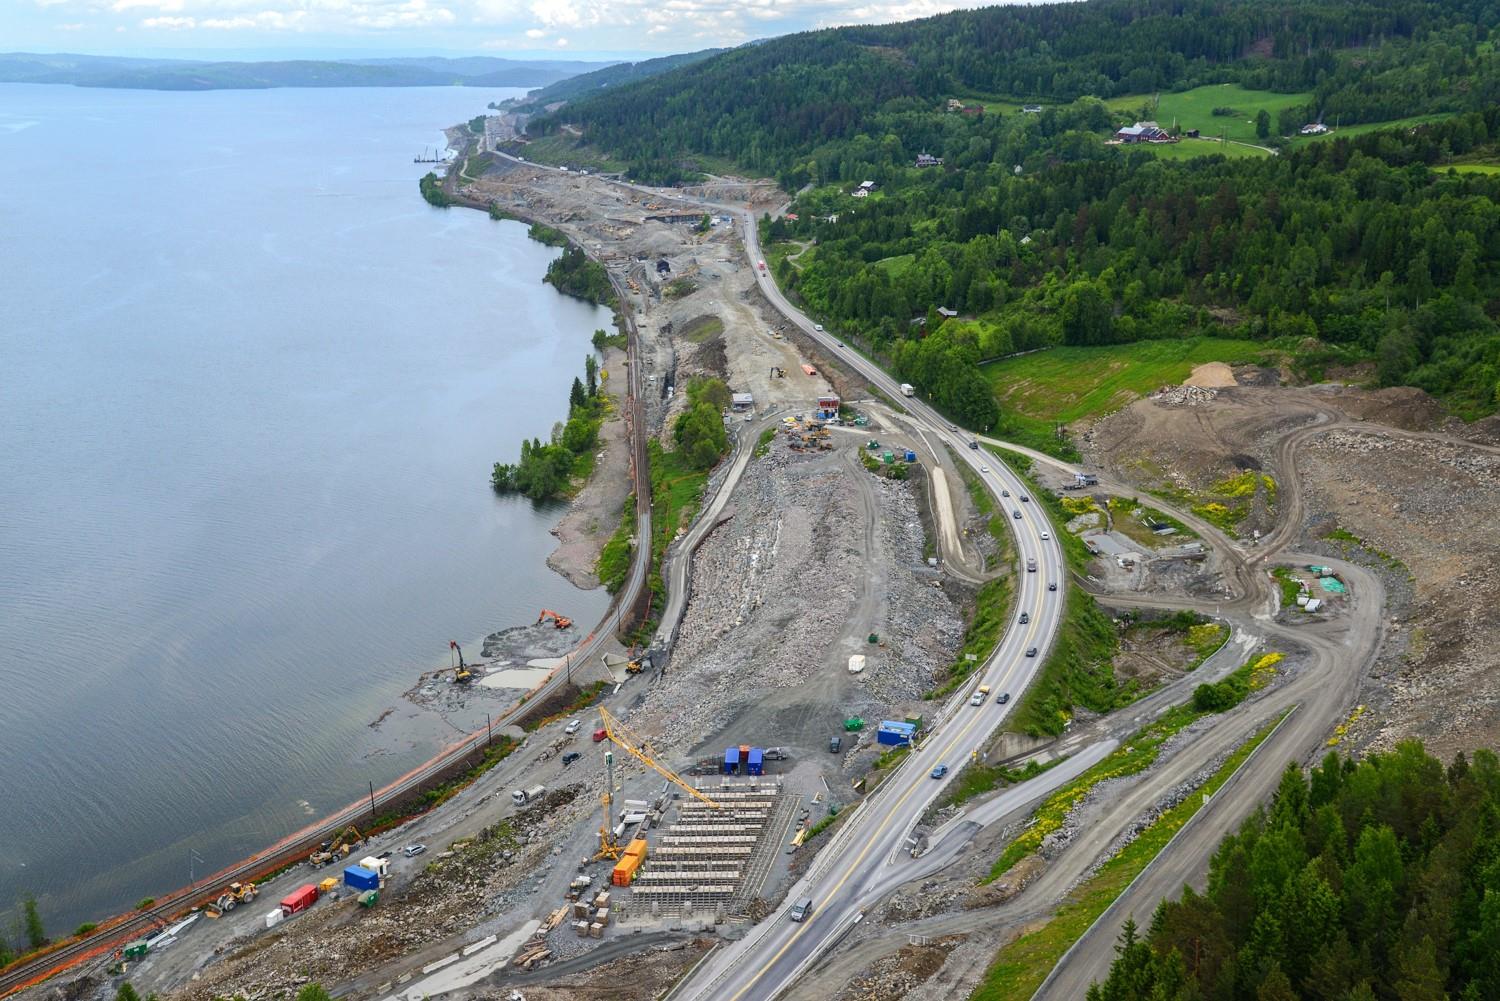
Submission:
<svg viewBox="0 0 1500 1001">
<path fill-rule="evenodd" d="M 1500 762 L 1419 744 L 1288 768 L 1202 896 L 1126 926 L 1089 1001 L 1500 998 Z"/>
</svg>

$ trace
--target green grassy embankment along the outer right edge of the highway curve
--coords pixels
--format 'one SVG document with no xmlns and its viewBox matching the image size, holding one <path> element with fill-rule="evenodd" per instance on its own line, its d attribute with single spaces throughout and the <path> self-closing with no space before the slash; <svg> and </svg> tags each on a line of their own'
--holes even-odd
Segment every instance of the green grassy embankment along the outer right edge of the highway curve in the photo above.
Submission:
<svg viewBox="0 0 1500 1001">
<path fill-rule="evenodd" d="M 1002 462 L 1006 462 L 1026 482 L 1032 503 L 1047 509 L 1053 525 L 1058 527 L 1056 539 L 1062 546 L 1065 564 L 1072 573 L 1083 573 L 1089 551 L 1083 540 L 1062 525 L 1068 524 L 1072 513 L 1066 504 L 1077 506 L 1080 501 L 1092 504 L 1090 498 L 1059 498 L 1052 491 L 1042 489 L 1030 476 L 1030 459 L 1010 449 L 988 446 Z M 1059 581 L 1059 587 L 1066 582 Z M 1058 639 L 1041 665 L 1041 671 L 1026 689 L 1020 705 L 1011 716 L 1008 726 L 1032 737 L 1058 735 L 1068 720 L 1072 719 L 1072 707 L 1083 705 L 1095 713 L 1108 713 L 1113 708 L 1132 702 L 1138 695 L 1136 681 L 1120 684 L 1114 677 L 1114 654 L 1119 651 L 1119 632 L 1114 621 L 1104 614 L 1098 602 L 1078 587 L 1066 587 L 1064 600 L 1062 623 L 1058 629 Z"/>
</svg>

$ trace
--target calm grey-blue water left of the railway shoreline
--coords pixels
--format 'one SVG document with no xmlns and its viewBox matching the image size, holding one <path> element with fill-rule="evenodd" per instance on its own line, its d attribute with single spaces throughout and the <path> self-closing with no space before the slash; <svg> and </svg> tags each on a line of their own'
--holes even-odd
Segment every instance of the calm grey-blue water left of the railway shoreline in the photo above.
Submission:
<svg viewBox="0 0 1500 1001">
<path fill-rule="evenodd" d="M 411 162 L 510 93 L 0 84 L 0 917 L 244 857 L 430 755 L 368 723 L 450 638 L 603 611 L 488 474 L 609 315 Z"/>
</svg>

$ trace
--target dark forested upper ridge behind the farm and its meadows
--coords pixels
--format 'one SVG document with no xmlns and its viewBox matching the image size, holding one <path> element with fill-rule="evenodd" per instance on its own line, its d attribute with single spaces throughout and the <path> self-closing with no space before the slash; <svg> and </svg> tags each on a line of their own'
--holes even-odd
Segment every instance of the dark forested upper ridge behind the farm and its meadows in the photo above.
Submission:
<svg viewBox="0 0 1500 1001">
<path fill-rule="evenodd" d="M 1496 0 L 1089 0 L 1012 5 L 748 45 L 532 123 L 580 125 L 645 170 L 687 152 L 806 180 L 796 161 L 878 111 L 945 95 L 1048 102 L 1206 83 L 1312 92 L 1306 117 L 1380 122 L 1500 99 Z"/>
</svg>

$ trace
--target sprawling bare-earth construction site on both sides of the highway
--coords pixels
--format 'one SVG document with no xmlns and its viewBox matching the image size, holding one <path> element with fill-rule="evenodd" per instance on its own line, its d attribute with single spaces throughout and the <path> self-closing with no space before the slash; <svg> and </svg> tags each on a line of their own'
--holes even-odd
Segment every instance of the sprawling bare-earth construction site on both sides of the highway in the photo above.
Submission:
<svg viewBox="0 0 1500 1001">
<path fill-rule="evenodd" d="M 694 377 L 734 393 L 730 455 L 702 518 L 674 527 L 668 563 L 686 566 L 687 597 L 680 620 L 662 623 L 670 642 L 658 636 L 650 657 L 612 642 L 567 662 L 570 684 L 600 701 L 496 728 L 489 746 L 504 753 L 435 809 L 375 837 L 354 827 L 22 996 L 105 1001 L 129 980 L 142 996 L 183 1001 L 291 998 L 309 981 L 380 1001 L 658 998 L 788 903 L 816 852 L 838 843 L 840 815 L 939 722 L 933 692 L 980 659 L 964 653 L 976 612 L 1012 621 L 1028 570 L 1008 528 L 993 530 L 990 503 L 1004 522 L 1036 504 L 981 500 L 986 488 L 930 428 L 768 302 L 759 261 L 714 206 L 758 218 L 784 203 L 774 186 L 716 179 L 651 195 L 495 156 L 456 188 L 468 204 L 561 230 L 627 290 L 648 387 L 638 432 L 670 447 Z M 1272 710 L 1310 707 L 1294 725 L 1317 746 L 1332 732 L 1314 716 L 1318 699 L 1342 717 L 1346 692 L 1360 705 L 1340 731 L 1353 746 L 1419 735 L 1446 752 L 1500 737 L 1486 695 L 1500 668 L 1482 648 L 1500 608 L 1500 537 L 1486 518 L 1500 434 L 1444 423 L 1414 390 L 1288 387 L 1254 366 L 1212 381 L 1070 428 L 1083 461 L 1032 467 L 1064 513 L 1052 531 L 1089 554 L 1053 584 L 1106 609 L 1119 641 L 1110 669 L 1138 690 L 1131 708 L 1076 708 L 1059 735 L 996 732 L 972 762 L 954 761 L 1010 777 L 934 803 L 910 851 L 880 860 L 894 875 L 879 906 L 786 996 L 966 996 L 996 948 L 1188 800 Z M 574 525 L 620 522 L 628 486 L 616 480 L 580 495 Z M 564 540 L 573 572 L 591 572 L 603 536 Z M 976 608 L 987 585 L 999 608 Z M 1198 615 L 1191 626 L 1167 621 L 1184 609 Z M 453 663 L 408 699 L 454 719 L 514 702 L 585 629 L 542 609 L 478 656 L 454 644 Z M 1356 641 L 1376 650 L 1368 671 L 1338 660 Z M 1268 651 L 1276 669 L 1244 714 L 1184 729 L 1149 768 L 1080 795 L 1034 852 L 986 878 L 1034 822 L 1030 801 L 1006 800 L 1023 768 L 1066 768 L 1090 741 L 1128 744 L 1140 720 Z M 994 704 L 987 689 L 975 695 L 974 711 Z M 962 843 L 922 861 L 928 834 Z"/>
</svg>

